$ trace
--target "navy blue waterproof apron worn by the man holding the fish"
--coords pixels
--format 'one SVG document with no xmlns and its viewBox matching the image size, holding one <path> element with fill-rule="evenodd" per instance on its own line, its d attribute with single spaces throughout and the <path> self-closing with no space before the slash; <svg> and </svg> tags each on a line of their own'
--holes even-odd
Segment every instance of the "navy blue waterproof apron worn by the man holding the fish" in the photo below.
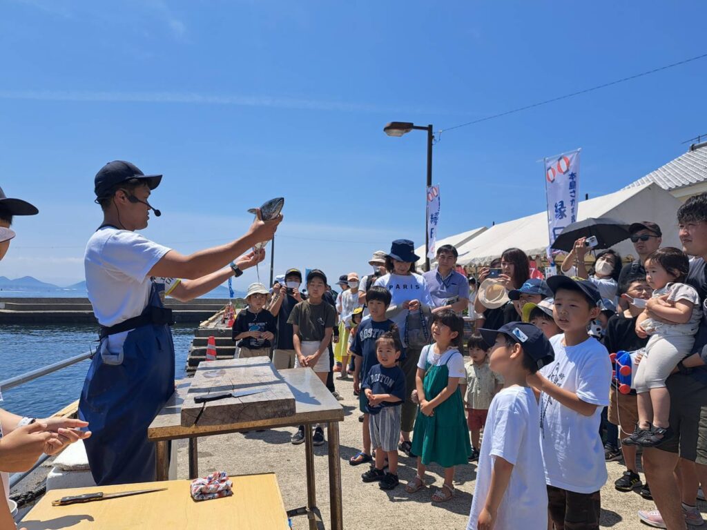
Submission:
<svg viewBox="0 0 707 530">
<path fill-rule="evenodd" d="M 142 315 L 162 308 L 155 283 Z M 101 339 L 104 346 L 107 337 Z M 122 355 L 99 348 L 83 383 L 78 417 L 93 432 L 86 454 L 98 485 L 156 480 L 155 444 L 147 428 L 175 390 L 175 348 L 168 324 L 129 331 Z"/>
</svg>

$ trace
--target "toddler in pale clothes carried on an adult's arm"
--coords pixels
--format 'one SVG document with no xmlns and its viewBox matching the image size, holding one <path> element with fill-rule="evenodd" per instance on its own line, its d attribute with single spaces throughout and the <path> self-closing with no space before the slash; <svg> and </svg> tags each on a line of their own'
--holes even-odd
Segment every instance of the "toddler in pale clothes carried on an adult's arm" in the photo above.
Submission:
<svg viewBox="0 0 707 530">
<path fill-rule="evenodd" d="M 673 247 L 658 249 L 645 259 L 645 280 L 653 297 L 636 320 L 636 334 L 650 339 L 633 376 L 638 424 L 624 444 L 655 447 L 673 436 L 665 379 L 689 355 L 702 318 L 700 295 L 691 285 L 679 283 L 689 269 L 687 256 Z"/>
</svg>

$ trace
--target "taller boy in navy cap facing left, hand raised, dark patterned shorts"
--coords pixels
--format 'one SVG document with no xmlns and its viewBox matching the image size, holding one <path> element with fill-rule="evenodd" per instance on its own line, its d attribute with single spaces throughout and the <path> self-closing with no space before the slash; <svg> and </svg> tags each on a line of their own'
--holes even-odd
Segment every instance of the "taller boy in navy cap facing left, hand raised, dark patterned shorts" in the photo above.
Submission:
<svg viewBox="0 0 707 530">
<path fill-rule="evenodd" d="M 550 339 L 555 360 L 528 376 L 540 391 L 540 447 L 549 516 L 558 530 L 599 530 L 600 490 L 607 481 L 602 408 L 609 404 L 612 365 L 588 324 L 601 312 L 601 296 L 588 280 L 551 276 L 553 317 L 563 331 Z"/>
</svg>

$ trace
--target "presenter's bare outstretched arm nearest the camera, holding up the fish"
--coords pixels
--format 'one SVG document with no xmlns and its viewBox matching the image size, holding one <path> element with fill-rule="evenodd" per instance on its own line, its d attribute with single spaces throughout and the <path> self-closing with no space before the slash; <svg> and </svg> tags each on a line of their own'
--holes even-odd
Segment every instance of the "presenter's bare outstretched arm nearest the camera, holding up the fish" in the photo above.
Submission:
<svg viewBox="0 0 707 530">
<path fill-rule="evenodd" d="M 195 280 L 211 274 L 227 266 L 234 259 L 238 259 L 257 243 L 271 240 L 281 220 L 282 215 L 279 215 L 273 220 L 263 221 L 258 210 L 257 218 L 250 229 L 237 240 L 226 245 L 199 250 L 188 256 L 170 250 L 153 265 L 148 276 Z"/>
</svg>

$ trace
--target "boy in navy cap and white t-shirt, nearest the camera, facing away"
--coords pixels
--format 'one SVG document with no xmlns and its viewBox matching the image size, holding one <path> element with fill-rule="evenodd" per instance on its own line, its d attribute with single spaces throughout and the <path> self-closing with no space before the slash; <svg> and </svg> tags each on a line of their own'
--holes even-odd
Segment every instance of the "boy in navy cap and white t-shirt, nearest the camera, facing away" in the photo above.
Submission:
<svg viewBox="0 0 707 530">
<path fill-rule="evenodd" d="M 504 383 L 489 407 L 467 530 L 546 530 L 540 413 L 527 379 L 553 361 L 552 346 L 542 331 L 525 322 L 479 333 L 491 345 L 491 370 Z"/>
</svg>

